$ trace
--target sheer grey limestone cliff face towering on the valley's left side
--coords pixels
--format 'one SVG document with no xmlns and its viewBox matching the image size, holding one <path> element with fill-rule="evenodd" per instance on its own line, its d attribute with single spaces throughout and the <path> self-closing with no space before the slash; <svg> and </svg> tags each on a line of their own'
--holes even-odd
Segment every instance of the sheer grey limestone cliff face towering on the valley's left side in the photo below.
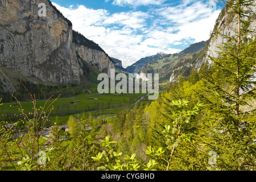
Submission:
<svg viewBox="0 0 256 182">
<path fill-rule="evenodd" d="M 46 5 L 46 16 L 38 15 L 39 3 Z M 0 69 L 43 82 L 76 83 L 82 75 L 77 51 L 100 71 L 113 67 L 105 52 L 73 43 L 72 23 L 50 1 L 0 0 Z"/>
</svg>

